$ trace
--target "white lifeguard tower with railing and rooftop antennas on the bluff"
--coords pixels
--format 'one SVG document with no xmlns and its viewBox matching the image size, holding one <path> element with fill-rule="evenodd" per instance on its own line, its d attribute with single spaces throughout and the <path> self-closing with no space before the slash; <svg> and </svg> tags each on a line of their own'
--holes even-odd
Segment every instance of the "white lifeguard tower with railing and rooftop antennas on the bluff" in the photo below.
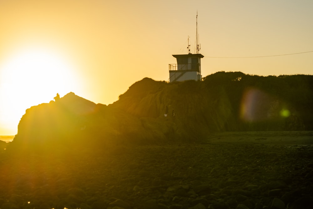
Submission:
<svg viewBox="0 0 313 209">
<path fill-rule="evenodd" d="M 195 54 L 190 53 L 190 45 L 189 45 L 189 36 L 188 36 L 188 54 L 185 55 L 172 55 L 176 58 L 177 64 L 169 64 L 169 73 L 170 78 L 169 82 L 175 82 L 175 81 L 187 81 L 187 80 L 195 80 L 195 81 L 201 81 L 202 75 L 201 75 L 201 58 L 204 56 L 202 54 L 199 54 L 200 50 L 200 44 L 198 44 L 198 12 L 197 12 L 197 30 L 196 30 L 196 36 L 197 36 L 197 45 L 196 45 L 196 51 Z"/>
</svg>

